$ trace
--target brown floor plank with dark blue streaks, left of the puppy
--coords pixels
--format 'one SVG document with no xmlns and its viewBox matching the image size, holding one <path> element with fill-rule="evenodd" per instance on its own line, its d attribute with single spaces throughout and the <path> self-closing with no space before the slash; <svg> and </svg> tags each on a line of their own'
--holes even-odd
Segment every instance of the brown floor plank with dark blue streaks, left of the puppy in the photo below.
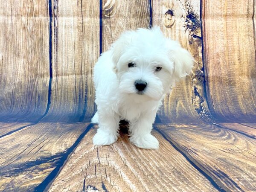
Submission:
<svg viewBox="0 0 256 192">
<path fill-rule="evenodd" d="M 0 191 L 33 191 L 63 163 L 87 125 L 38 123 L 0 138 Z"/>
</svg>

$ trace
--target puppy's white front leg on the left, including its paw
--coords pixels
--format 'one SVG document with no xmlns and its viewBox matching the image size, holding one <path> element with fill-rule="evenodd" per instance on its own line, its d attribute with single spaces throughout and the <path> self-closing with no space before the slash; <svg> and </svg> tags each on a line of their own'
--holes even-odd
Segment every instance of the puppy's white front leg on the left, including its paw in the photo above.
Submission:
<svg viewBox="0 0 256 192">
<path fill-rule="evenodd" d="M 109 113 L 99 114 L 99 128 L 93 137 L 94 145 L 111 145 L 116 142 L 119 129 L 119 116 Z"/>
</svg>

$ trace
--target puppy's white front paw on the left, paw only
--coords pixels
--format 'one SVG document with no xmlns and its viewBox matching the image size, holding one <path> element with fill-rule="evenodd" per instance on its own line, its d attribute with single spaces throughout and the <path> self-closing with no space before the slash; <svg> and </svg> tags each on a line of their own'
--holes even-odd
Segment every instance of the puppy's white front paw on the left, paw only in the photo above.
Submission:
<svg viewBox="0 0 256 192">
<path fill-rule="evenodd" d="M 93 137 L 94 145 L 111 145 L 117 140 L 117 134 L 111 134 L 108 131 L 98 129 L 97 133 Z"/>
</svg>

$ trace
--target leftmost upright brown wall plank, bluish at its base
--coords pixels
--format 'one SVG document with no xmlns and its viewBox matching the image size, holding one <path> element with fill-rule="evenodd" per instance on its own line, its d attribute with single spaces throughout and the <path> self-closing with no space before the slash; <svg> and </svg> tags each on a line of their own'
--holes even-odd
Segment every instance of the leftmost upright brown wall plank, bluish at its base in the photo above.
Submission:
<svg viewBox="0 0 256 192">
<path fill-rule="evenodd" d="M 48 1 L 0 2 L 0 121 L 36 121 L 49 84 Z"/>
</svg>

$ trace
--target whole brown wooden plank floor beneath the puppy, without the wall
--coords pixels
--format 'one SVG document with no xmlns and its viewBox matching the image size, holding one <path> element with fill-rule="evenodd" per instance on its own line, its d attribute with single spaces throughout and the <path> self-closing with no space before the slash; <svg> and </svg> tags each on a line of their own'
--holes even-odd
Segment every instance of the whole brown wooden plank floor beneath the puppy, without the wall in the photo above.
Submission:
<svg viewBox="0 0 256 192">
<path fill-rule="evenodd" d="M 1 123 L 0 191 L 256 191 L 256 124 L 156 124 L 157 151 L 91 127 Z"/>
</svg>

